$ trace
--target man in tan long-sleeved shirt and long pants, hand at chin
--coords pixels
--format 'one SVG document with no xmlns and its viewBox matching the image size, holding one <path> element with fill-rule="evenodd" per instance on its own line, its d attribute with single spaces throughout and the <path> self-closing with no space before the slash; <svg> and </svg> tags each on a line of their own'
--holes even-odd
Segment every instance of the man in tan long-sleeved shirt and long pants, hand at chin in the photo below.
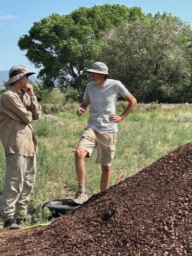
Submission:
<svg viewBox="0 0 192 256">
<path fill-rule="evenodd" d="M 10 85 L 0 100 L 0 139 L 6 157 L 6 174 L 1 198 L 4 228 L 21 228 L 27 220 L 30 195 L 36 175 L 37 142 L 30 122 L 40 117 L 41 106 L 28 76 L 35 74 L 24 66 L 9 71 Z M 16 220 L 16 221 L 15 221 Z"/>
</svg>

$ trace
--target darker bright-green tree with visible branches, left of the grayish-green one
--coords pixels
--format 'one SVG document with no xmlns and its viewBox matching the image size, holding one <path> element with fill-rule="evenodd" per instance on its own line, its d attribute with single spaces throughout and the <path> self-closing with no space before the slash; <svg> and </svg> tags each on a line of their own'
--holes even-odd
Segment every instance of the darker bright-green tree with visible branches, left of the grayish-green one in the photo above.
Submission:
<svg viewBox="0 0 192 256">
<path fill-rule="evenodd" d="M 38 77 L 46 87 L 57 84 L 82 94 L 88 81 L 83 71 L 98 60 L 104 33 L 144 17 L 141 8 L 118 4 L 81 7 L 68 15 L 54 13 L 35 22 L 28 34 L 19 38 L 18 46 L 40 69 Z"/>
</svg>

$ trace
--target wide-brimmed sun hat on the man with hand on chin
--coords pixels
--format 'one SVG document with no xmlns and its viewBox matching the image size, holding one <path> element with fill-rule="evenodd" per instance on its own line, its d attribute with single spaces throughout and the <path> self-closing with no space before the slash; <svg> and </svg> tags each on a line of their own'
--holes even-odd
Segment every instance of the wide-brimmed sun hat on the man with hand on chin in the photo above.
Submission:
<svg viewBox="0 0 192 256">
<path fill-rule="evenodd" d="M 9 80 L 5 83 L 7 86 L 13 82 L 16 82 L 23 78 L 25 75 L 30 76 L 35 74 L 34 72 L 29 71 L 26 67 L 22 65 L 15 65 L 9 70 Z"/>
</svg>

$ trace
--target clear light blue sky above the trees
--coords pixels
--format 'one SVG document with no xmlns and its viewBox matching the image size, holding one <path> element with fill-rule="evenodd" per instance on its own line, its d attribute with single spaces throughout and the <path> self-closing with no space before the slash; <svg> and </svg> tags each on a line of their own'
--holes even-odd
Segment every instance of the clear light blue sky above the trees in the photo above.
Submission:
<svg viewBox="0 0 192 256">
<path fill-rule="evenodd" d="M 0 9 L 0 71 L 9 70 L 13 65 L 19 64 L 38 72 L 25 57 L 25 52 L 20 51 L 17 46 L 18 38 L 28 34 L 33 22 L 38 22 L 52 13 L 69 14 L 81 6 L 90 8 L 103 4 L 138 6 L 145 14 L 153 15 L 166 11 L 192 25 L 191 0 L 3 0 Z"/>
</svg>

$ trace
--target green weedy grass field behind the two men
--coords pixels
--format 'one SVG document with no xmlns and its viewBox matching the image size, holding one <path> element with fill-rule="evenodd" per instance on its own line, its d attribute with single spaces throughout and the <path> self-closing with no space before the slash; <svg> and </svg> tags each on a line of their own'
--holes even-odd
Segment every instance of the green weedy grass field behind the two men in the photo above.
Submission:
<svg viewBox="0 0 192 256">
<path fill-rule="evenodd" d="M 77 190 L 74 151 L 87 125 L 89 110 L 76 115 L 77 103 L 68 103 L 65 111 L 57 114 L 42 114 L 33 122 L 38 140 L 37 176 L 29 203 L 31 213 L 40 213 L 45 202 L 74 197 Z M 125 108 L 124 102 L 117 105 L 117 114 Z M 110 185 L 117 177 L 135 175 L 166 153 L 191 141 L 192 106 L 178 104 L 174 107 L 156 103 L 140 106 L 118 123 L 119 134 L 115 158 L 112 164 Z M 86 188 L 88 195 L 98 193 L 100 166 L 95 163 L 97 152 L 86 159 Z M 5 175 L 5 157 L 0 145 L 0 191 Z"/>
</svg>

